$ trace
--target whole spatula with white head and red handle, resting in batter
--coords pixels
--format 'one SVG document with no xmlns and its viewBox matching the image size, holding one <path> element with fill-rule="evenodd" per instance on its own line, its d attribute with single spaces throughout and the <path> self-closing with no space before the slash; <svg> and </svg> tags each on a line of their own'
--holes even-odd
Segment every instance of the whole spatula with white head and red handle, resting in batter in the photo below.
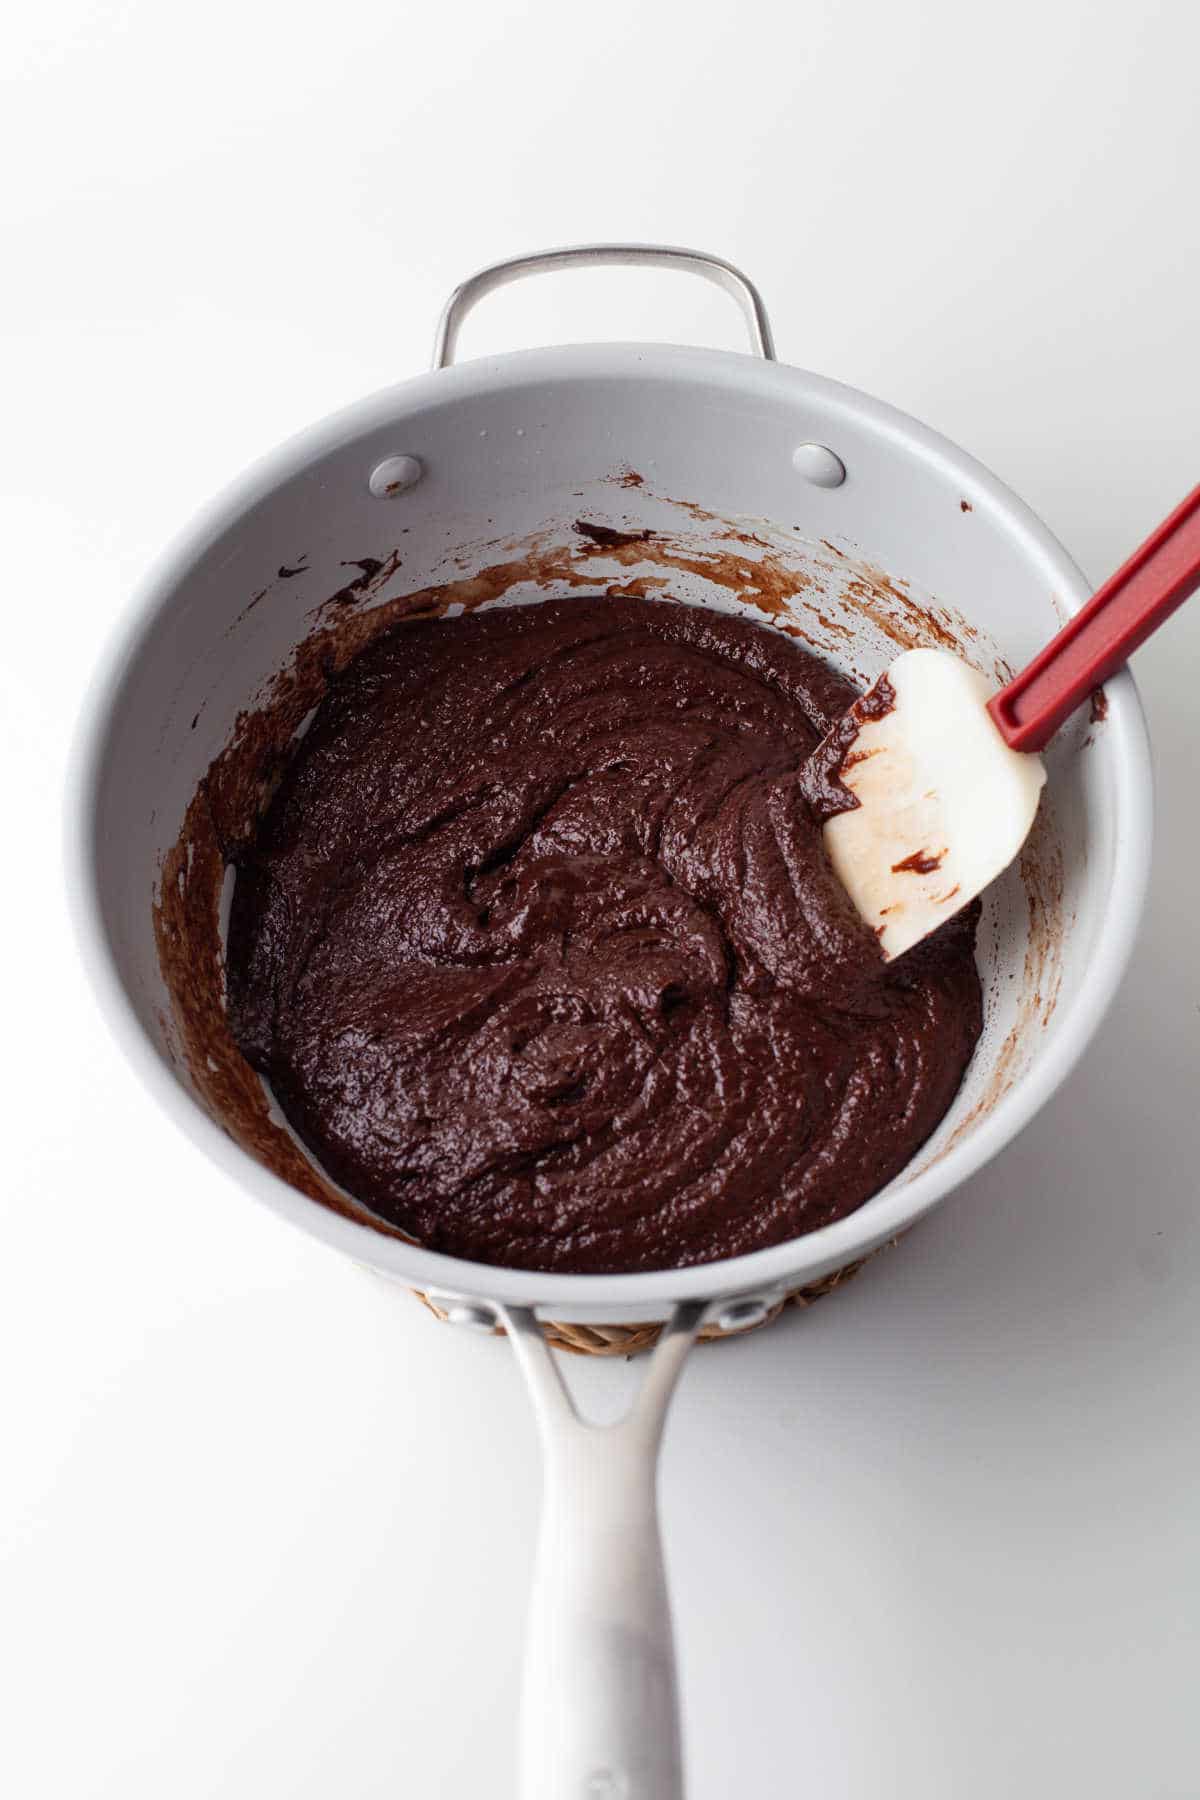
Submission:
<svg viewBox="0 0 1200 1800">
<path fill-rule="evenodd" d="M 1036 752 L 1196 587 L 1200 488 L 1007 688 L 905 650 L 822 740 L 826 851 L 889 961 L 1007 868 L 1038 810 Z"/>
</svg>

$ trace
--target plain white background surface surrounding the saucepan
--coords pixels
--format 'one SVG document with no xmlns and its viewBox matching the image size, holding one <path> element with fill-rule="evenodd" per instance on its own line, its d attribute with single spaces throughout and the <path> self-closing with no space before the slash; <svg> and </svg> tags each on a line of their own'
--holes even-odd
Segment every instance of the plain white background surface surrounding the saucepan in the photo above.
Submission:
<svg viewBox="0 0 1200 1800">
<path fill-rule="evenodd" d="M 745 265 L 786 360 L 973 450 L 1101 578 L 1200 479 L 1198 20 L 65 0 L 9 25 L 7 1793 L 513 1791 L 538 1463 L 507 1348 L 255 1210 L 76 967 L 65 749 L 146 562 L 250 457 L 421 369 L 466 272 L 631 238 Z M 739 329 L 680 277 L 576 275 L 497 297 L 464 353 L 587 337 Z M 1137 659 L 1151 898 L 1076 1076 L 844 1296 L 685 1372 L 694 1800 L 1200 1795 L 1198 670 L 1200 599 Z"/>
</svg>

